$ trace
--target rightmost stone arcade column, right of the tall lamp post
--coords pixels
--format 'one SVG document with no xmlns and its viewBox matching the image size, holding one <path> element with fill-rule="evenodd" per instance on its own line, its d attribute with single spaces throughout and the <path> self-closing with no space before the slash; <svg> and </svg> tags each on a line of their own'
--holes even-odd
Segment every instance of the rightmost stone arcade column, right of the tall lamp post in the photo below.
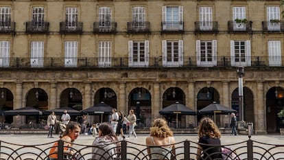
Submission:
<svg viewBox="0 0 284 160">
<path fill-rule="evenodd" d="M 254 108 L 255 113 L 255 134 L 263 134 L 266 132 L 266 116 L 265 116 L 265 98 L 263 93 L 263 82 L 257 82 L 257 100 Z"/>
</svg>

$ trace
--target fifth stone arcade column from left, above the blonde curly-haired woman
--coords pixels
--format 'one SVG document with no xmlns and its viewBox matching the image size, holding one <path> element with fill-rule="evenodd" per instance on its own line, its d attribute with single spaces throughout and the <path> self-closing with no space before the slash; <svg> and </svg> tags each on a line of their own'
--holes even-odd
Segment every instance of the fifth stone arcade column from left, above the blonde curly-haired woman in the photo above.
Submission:
<svg viewBox="0 0 284 160">
<path fill-rule="evenodd" d="M 152 99 L 152 121 L 158 117 L 160 117 L 160 114 L 158 113 L 161 111 L 163 106 L 160 103 L 161 100 L 161 86 L 160 82 L 154 82 L 153 87 L 153 99 Z"/>
</svg>

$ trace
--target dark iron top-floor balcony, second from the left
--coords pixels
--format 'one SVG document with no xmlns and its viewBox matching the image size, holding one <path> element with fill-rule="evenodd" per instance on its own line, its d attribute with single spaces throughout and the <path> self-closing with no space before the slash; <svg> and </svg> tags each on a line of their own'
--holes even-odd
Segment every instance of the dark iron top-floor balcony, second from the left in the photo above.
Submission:
<svg viewBox="0 0 284 160">
<path fill-rule="evenodd" d="M 27 34 L 48 34 L 49 22 L 26 22 L 25 32 Z"/>
</svg>

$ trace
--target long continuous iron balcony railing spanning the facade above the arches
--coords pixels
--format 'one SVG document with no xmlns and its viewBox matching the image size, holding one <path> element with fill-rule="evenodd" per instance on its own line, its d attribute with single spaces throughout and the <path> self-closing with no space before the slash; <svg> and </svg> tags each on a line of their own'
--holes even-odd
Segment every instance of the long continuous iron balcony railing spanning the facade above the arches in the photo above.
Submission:
<svg viewBox="0 0 284 160">
<path fill-rule="evenodd" d="M 138 61 L 128 57 L 46 57 L 46 58 L 0 58 L 1 68 L 188 68 L 188 67 L 284 67 L 284 56 L 255 57 L 182 57 L 181 61 L 163 61 L 163 57 L 151 57 Z"/>
</svg>

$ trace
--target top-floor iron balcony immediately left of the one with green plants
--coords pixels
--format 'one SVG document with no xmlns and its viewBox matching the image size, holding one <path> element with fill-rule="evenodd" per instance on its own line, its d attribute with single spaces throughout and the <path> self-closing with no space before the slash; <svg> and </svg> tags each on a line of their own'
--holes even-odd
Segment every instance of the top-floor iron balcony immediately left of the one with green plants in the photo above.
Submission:
<svg viewBox="0 0 284 160">
<path fill-rule="evenodd" d="M 218 22 L 217 21 L 196 21 L 194 22 L 196 27 L 195 33 L 212 33 L 217 34 Z"/>
</svg>

